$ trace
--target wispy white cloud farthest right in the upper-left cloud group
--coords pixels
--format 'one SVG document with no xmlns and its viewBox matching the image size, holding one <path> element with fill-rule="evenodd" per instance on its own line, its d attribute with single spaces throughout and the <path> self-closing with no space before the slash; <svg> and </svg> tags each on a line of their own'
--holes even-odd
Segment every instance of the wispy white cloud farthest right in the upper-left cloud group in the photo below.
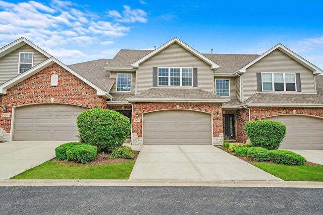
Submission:
<svg viewBox="0 0 323 215">
<path fill-rule="evenodd" d="M 130 6 L 124 5 L 124 11 L 122 15 L 117 11 L 109 11 L 109 17 L 115 18 L 117 22 L 122 23 L 135 23 L 141 22 L 146 23 L 147 20 L 147 13 L 141 9 L 131 9 Z"/>
</svg>

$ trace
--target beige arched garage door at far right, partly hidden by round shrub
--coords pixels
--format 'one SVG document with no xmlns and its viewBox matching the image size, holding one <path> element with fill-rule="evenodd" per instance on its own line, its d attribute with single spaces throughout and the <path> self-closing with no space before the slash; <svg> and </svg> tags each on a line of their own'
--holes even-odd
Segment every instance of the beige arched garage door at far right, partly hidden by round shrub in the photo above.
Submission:
<svg viewBox="0 0 323 215">
<path fill-rule="evenodd" d="M 282 122 L 286 126 L 286 136 L 280 149 L 323 150 L 323 119 L 284 115 L 268 117 L 264 120 Z"/>
</svg>

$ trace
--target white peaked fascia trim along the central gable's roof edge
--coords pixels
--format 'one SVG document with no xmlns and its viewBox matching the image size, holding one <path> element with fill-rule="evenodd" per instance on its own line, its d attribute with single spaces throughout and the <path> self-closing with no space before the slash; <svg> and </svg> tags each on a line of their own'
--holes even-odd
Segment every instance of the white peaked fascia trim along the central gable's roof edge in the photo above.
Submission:
<svg viewBox="0 0 323 215">
<path fill-rule="evenodd" d="M 158 48 L 156 48 L 155 50 L 153 50 L 152 52 L 150 52 L 146 56 L 144 56 L 141 59 L 137 60 L 136 62 L 132 63 L 132 67 L 133 68 L 139 68 L 139 64 L 140 63 L 144 62 L 148 58 L 150 58 L 153 55 L 159 53 L 160 51 L 164 50 L 165 48 L 167 48 L 168 46 L 172 45 L 175 42 L 178 43 L 183 48 L 185 48 L 188 51 L 190 51 L 191 53 L 193 53 L 195 56 L 197 56 L 201 60 L 203 60 L 206 63 L 210 64 L 212 70 L 216 70 L 217 68 L 220 67 L 217 63 L 215 63 L 212 60 L 208 59 L 207 57 L 205 57 L 204 55 L 202 55 L 200 52 L 196 51 L 194 48 L 192 48 L 191 46 L 187 45 L 186 43 L 184 43 L 182 40 L 178 39 L 177 37 L 174 37 L 173 39 L 171 39 L 170 41 L 168 41 L 164 45 L 159 46 Z"/>
</svg>

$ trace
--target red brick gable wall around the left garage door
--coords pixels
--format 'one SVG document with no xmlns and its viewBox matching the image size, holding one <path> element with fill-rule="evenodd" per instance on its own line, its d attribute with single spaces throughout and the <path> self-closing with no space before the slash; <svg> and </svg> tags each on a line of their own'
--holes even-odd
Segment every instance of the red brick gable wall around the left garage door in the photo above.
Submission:
<svg viewBox="0 0 323 215">
<path fill-rule="evenodd" d="M 58 86 L 50 86 L 50 78 L 53 71 L 59 75 Z M 57 104 L 71 104 L 87 108 L 94 108 L 98 105 L 106 109 L 106 99 L 97 96 L 96 90 L 81 81 L 69 71 L 53 63 L 35 75 L 18 83 L 7 90 L 7 94 L 2 96 L 1 107 L 7 105 L 12 116 L 13 107 L 31 104 L 51 103 L 51 98 Z M 9 140 L 11 128 L 11 117 L 2 117 L 3 110 L 0 109 L 0 135 L 6 136 Z"/>
</svg>

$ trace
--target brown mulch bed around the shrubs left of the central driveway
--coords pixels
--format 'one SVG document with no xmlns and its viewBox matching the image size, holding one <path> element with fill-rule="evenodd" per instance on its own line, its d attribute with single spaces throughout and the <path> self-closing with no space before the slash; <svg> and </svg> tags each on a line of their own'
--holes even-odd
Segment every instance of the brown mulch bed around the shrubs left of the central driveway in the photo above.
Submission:
<svg viewBox="0 0 323 215">
<path fill-rule="evenodd" d="M 126 159 L 126 158 L 109 158 L 107 157 L 109 154 L 106 154 L 104 152 L 98 153 L 95 157 L 94 161 L 91 161 L 86 164 L 81 164 L 73 161 L 61 161 L 57 160 L 56 158 L 51 159 L 51 161 L 55 161 L 57 163 L 62 164 L 74 164 L 74 165 L 80 165 L 80 166 L 98 166 L 98 165 L 104 165 L 104 164 L 115 164 L 115 163 L 123 163 L 128 161 L 135 161 L 139 155 L 138 151 L 132 151 L 132 153 L 135 155 L 133 159 Z"/>
</svg>

